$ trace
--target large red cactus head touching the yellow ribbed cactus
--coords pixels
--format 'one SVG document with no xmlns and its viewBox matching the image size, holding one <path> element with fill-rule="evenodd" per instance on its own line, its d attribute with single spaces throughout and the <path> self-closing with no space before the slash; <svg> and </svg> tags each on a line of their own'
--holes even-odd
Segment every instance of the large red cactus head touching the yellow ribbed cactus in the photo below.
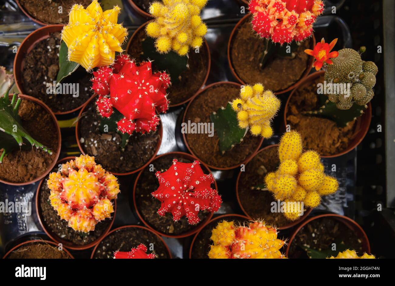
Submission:
<svg viewBox="0 0 395 286">
<path fill-rule="evenodd" d="M 137 66 L 128 55 L 120 55 L 112 66 L 103 66 L 93 75 L 92 90 L 99 95 L 100 115 L 108 118 L 114 109 L 124 115 L 117 122 L 118 131 L 131 135 L 156 130 L 159 118 L 155 111 L 164 113 L 169 108 L 166 89 L 171 83 L 166 72 L 152 73 L 150 61 Z"/>
</svg>

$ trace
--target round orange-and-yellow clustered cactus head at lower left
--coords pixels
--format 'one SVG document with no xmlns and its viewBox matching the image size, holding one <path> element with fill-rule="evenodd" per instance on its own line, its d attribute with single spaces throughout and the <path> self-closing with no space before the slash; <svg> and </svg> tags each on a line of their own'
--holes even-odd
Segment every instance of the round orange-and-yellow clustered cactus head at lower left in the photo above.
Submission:
<svg viewBox="0 0 395 286">
<path fill-rule="evenodd" d="M 111 199 L 116 199 L 119 184 L 114 175 L 105 171 L 94 157 L 81 155 L 62 164 L 60 170 L 49 174 L 52 207 L 76 231 L 88 232 L 98 222 L 111 218 Z"/>
</svg>

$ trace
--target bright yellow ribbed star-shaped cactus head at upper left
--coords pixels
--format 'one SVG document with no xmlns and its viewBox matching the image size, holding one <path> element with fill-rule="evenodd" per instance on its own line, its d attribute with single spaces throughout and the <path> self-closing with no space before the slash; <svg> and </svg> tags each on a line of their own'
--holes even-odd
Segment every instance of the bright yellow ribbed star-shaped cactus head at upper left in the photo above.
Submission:
<svg viewBox="0 0 395 286">
<path fill-rule="evenodd" d="M 128 30 L 117 24 L 119 12 L 119 6 L 103 12 L 97 0 L 92 0 L 86 9 L 74 4 L 69 23 L 62 30 L 68 59 L 87 71 L 113 64 L 115 52 L 123 51 L 121 45 L 128 35 Z"/>
</svg>

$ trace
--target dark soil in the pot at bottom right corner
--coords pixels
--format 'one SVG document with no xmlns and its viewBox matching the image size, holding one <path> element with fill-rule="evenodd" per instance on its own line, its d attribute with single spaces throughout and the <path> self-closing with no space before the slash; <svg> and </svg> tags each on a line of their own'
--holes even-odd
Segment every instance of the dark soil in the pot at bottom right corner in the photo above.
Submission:
<svg viewBox="0 0 395 286">
<path fill-rule="evenodd" d="M 337 245 L 338 249 L 348 248 L 358 253 L 363 252 L 362 241 L 354 231 L 339 220 L 324 217 L 312 220 L 298 231 L 290 245 L 288 258 L 308 258 L 304 247 L 324 252 L 333 243 L 342 244 Z"/>
</svg>

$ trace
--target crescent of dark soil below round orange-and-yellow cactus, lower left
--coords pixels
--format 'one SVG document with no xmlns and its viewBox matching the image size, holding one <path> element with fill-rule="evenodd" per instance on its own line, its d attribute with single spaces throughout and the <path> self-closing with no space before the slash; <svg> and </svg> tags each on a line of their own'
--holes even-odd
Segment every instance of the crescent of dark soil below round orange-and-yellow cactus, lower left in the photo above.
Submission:
<svg viewBox="0 0 395 286">
<path fill-rule="evenodd" d="M 58 167 L 56 166 L 55 171 L 57 171 L 57 168 Z M 66 222 L 66 220 L 60 220 L 60 217 L 51 206 L 49 201 L 50 190 L 47 186 L 48 179 L 48 176 L 44 179 L 39 193 L 41 222 L 44 224 L 45 228 L 47 228 L 47 230 L 49 230 L 51 233 L 57 235 L 60 239 L 68 241 L 71 244 L 77 246 L 87 245 L 98 239 L 106 231 L 109 224 L 111 223 L 111 220 L 106 218 L 104 221 L 99 222 L 96 224 L 95 230 L 89 231 L 89 233 L 73 230 L 68 226 L 68 222 Z"/>
</svg>

